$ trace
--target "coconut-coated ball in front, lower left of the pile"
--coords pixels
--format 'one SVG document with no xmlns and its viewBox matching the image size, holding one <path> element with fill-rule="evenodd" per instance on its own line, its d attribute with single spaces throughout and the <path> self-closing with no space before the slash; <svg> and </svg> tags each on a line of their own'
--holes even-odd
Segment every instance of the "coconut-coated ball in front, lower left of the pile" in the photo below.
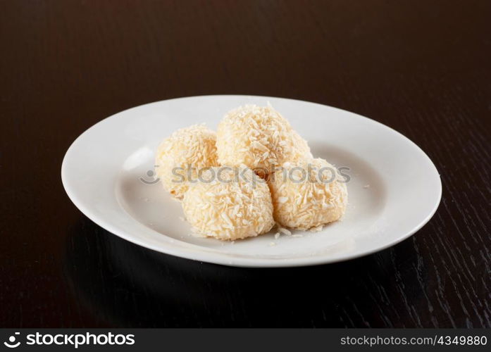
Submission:
<svg viewBox="0 0 491 352">
<path fill-rule="evenodd" d="M 203 170 L 198 182 L 189 183 L 182 209 L 201 237 L 244 239 L 275 225 L 268 185 L 245 166 Z"/>
</svg>

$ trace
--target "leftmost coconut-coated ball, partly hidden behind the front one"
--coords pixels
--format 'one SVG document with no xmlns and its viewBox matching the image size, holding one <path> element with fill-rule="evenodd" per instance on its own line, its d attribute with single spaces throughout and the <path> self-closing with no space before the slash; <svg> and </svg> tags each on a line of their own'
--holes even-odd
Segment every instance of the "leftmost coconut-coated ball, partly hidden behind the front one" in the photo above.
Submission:
<svg viewBox="0 0 491 352">
<path fill-rule="evenodd" d="M 189 177 L 196 179 L 201 168 L 218 165 L 216 133 L 204 125 L 173 132 L 159 145 L 155 165 L 163 188 L 181 199 L 187 191 Z"/>
</svg>

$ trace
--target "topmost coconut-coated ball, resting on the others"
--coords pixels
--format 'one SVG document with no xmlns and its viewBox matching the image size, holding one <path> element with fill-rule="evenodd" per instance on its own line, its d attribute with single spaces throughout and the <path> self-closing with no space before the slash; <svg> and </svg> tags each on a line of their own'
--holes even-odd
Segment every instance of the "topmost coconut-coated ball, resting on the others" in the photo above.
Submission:
<svg viewBox="0 0 491 352">
<path fill-rule="evenodd" d="M 267 173 L 291 158 L 292 146 L 290 123 L 271 106 L 240 106 L 218 125 L 220 165 L 244 164 Z"/>
</svg>

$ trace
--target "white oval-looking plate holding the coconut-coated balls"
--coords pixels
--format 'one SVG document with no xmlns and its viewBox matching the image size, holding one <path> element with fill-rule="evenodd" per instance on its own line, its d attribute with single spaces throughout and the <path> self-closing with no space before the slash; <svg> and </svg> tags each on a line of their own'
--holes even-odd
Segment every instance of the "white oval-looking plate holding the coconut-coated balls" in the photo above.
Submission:
<svg viewBox="0 0 491 352">
<path fill-rule="evenodd" d="M 350 168 L 349 206 L 321 232 L 222 242 L 192 237 L 182 210 L 152 184 L 154 153 L 180 127 L 206 122 L 245 103 L 270 102 L 309 141 L 313 155 Z M 148 173 L 147 173 L 148 172 Z M 204 262 L 244 267 L 314 265 L 380 251 L 414 234 L 433 216 L 442 184 L 416 144 L 389 127 L 330 106 L 268 96 L 192 96 L 117 113 L 92 126 L 68 149 L 63 186 L 75 206 L 106 230 L 135 244 Z"/>
</svg>

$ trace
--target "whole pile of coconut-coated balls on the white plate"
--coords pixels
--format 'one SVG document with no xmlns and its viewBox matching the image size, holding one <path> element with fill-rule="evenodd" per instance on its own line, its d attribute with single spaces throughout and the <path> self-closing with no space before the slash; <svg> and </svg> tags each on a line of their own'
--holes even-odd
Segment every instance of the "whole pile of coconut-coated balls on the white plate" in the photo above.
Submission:
<svg viewBox="0 0 491 352">
<path fill-rule="evenodd" d="M 275 223 L 319 230 L 339 220 L 348 201 L 336 168 L 313 158 L 270 105 L 229 111 L 217 133 L 204 125 L 174 132 L 157 149 L 156 175 L 182 200 L 193 233 L 221 240 L 256 237 Z"/>
</svg>

